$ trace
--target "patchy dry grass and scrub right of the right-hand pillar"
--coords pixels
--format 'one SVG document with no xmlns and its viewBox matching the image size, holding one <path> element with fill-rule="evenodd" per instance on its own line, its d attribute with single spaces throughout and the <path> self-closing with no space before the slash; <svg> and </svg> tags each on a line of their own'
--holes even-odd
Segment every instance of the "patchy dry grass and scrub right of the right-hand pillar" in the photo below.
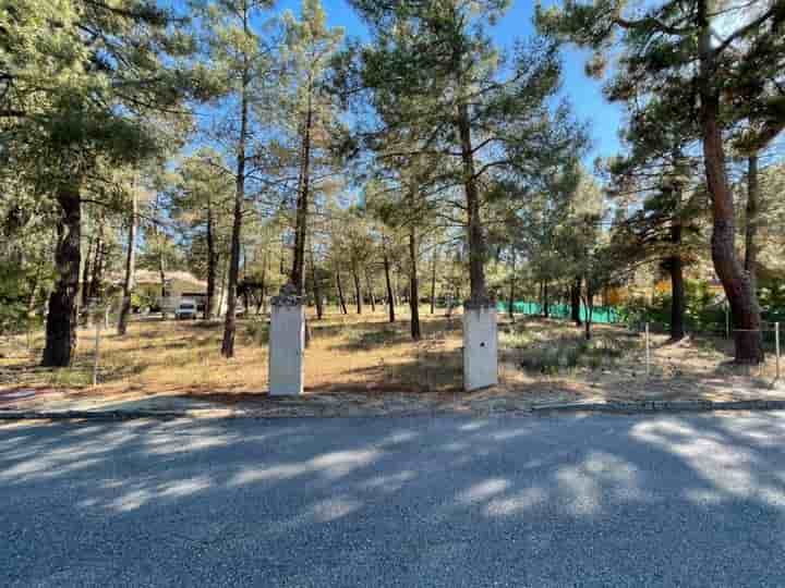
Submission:
<svg viewBox="0 0 785 588">
<path fill-rule="evenodd" d="M 673 343 L 665 334 L 652 334 L 647 371 L 643 333 L 607 324 L 595 324 L 593 333 L 585 342 L 568 321 L 529 319 L 507 326 L 500 346 L 503 362 L 514 366 L 508 387 L 551 385 L 597 401 L 783 396 L 781 383 L 773 385 L 773 350 L 761 366 L 737 366 L 730 341 L 701 336 Z"/>
</svg>

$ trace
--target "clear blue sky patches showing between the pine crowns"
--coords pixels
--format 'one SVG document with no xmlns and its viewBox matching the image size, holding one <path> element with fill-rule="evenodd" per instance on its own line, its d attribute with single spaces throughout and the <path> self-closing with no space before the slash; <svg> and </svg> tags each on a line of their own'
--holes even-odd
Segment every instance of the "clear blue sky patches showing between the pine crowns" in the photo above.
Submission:
<svg viewBox="0 0 785 588">
<path fill-rule="evenodd" d="M 363 36 L 364 26 L 346 0 L 322 0 L 331 26 L 342 26 L 349 36 Z M 279 0 L 278 10 L 299 12 L 301 0 Z M 534 2 L 512 0 L 512 5 L 499 23 L 491 29 L 496 42 L 510 48 L 517 38 L 534 34 L 532 16 Z M 602 96 L 602 83 L 587 77 L 583 73 L 585 53 L 576 49 L 564 50 L 565 79 L 561 94 L 569 99 L 578 118 L 589 121 L 594 144 L 589 163 L 594 157 L 609 157 L 619 150 L 618 128 L 621 126 L 623 110 L 608 103 Z"/>
</svg>

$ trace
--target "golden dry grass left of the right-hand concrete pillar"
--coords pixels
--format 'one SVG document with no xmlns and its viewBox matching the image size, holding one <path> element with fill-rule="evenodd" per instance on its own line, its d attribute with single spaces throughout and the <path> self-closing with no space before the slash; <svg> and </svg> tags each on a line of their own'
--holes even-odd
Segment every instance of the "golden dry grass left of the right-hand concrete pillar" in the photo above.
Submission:
<svg viewBox="0 0 785 588">
<path fill-rule="evenodd" d="M 408 335 L 409 317 L 333 311 L 312 320 L 305 352 L 305 389 L 318 391 L 445 391 L 461 385 L 460 317 L 423 315 L 423 341 Z M 220 356 L 222 322 L 141 320 L 120 338 L 104 331 L 100 376 L 92 388 L 95 330 L 78 332 L 74 366 L 50 370 L 36 366 L 40 334 L 5 345 L 0 352 L 0 389 L 34 387 L 104 392 L 261 393 L 267 389 L 266 319 L 240 320 L 235 357 Z"/>
</svg>

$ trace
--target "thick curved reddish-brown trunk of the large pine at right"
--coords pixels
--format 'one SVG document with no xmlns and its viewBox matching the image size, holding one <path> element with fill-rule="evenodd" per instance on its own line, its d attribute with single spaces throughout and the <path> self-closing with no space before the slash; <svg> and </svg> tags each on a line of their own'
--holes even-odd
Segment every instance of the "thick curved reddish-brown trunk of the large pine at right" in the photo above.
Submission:
<svg viewBox="0 0 785 588">
<path fill-rule="evenodd" d="M 725 171 L 725 150 L 720 122 L 720 94 L 708 0 L 698 0 L 700 25 L 700 118 L 706 184 L 712 197 L 712 260 L 725 290 L 734 322 L 736 362 L 763 362 L 761 313 L 750 277 L 736 256 L 734 199 Z"/>
</svg>

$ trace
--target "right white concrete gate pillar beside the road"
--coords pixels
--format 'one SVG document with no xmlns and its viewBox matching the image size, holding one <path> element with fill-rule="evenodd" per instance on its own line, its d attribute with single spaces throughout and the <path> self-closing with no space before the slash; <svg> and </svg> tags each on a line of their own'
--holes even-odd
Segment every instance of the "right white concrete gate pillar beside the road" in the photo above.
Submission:
<svg viewBox="0 0 785 588">
<path fill-rule="evenodd" d="M 463 303 L 463 390 L 498 383 L 496 306 L 490 301 Z"/>
</svg>

